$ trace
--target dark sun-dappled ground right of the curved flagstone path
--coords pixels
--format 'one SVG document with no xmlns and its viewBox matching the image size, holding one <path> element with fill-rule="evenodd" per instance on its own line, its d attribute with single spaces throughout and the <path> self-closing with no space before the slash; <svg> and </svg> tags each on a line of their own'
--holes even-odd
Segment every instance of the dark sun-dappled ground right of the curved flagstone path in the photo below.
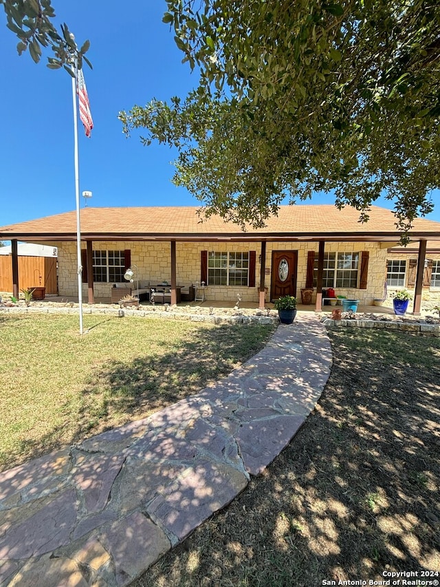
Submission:
<svg viewBox="0 0 440 587">
<path fill-rule="evenodd" d="M 325 392 L 287 449 L 133 587 L 310 587 L 440 570 L 440 340 L 330 337 Z"/>
</svg>

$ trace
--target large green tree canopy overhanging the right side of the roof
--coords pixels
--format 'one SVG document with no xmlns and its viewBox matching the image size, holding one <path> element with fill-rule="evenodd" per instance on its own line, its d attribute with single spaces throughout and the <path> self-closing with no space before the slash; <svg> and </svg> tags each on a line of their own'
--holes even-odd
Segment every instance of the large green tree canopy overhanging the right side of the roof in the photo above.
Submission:
<svg viewBox="0 0 440 587">
<path fill-rule="evenodd" d="M 425 0 L 168 0 L 198 87 L 120 112 L 126 134 L 179 149 L 173 181 L 261 226 L 289 194 L 336 205 L 386 194 L 397 225 L 440 184 L 440 4 Z"/>
</svg>

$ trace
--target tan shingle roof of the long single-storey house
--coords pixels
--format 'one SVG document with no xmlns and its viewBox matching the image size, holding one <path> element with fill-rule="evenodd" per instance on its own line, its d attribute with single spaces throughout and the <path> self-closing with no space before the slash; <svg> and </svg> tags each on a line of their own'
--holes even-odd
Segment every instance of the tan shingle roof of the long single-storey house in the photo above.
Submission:
<svg viewBox="0 0 440 587">
<path fill-rule="evenodd" d="M 241 227 L 219 216 L 201 222 L 196 207 L 85 208 L 80 211 L 83 239 L 399 239 L 392 211 L 372 206 L 370 220 L 359 222 L 359 211 L 332 205 L 281 206 L 265 228 Z M 440 239 L 440 223 L 417 219 L 413 238 Z M 76 239 L 76 212 L 47 216 L 0 227 L 0 239 L 56 241 Z"/>
</svg>

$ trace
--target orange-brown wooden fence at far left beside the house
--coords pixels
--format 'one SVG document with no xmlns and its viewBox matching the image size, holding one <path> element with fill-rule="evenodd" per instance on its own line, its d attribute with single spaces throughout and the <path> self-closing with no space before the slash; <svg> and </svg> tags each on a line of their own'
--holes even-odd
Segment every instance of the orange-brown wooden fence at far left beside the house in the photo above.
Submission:
<svg viewBox="0 0 440 587">
<path fill-rule="evenodd" d="M 23 257 L 19 255 L 19 288 L 46 288 L 58 293 L 56 257 Z M 0 291 L 12 292 L 11 255 L 0 255 Z"/>
</svg>

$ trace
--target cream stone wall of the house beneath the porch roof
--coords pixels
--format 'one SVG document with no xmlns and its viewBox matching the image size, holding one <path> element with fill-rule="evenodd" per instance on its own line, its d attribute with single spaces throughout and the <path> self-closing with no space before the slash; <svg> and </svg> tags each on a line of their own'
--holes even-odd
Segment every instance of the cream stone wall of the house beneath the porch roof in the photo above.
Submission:
<svg viewBox="0 0 440 587">
<path fill-rule="evenodd" d="M 77 291 L 76 278 L 76 243 L 60 242 L 58 246 L 58 290 L 60 295 L 74 296 Z M 158 284 L 162 281 L 171 281 L 170 267 L 170 243 L 169 242 L 94 242 L 94 250 L 131 250 L 131 262 L 139 268 L 140 281 L 149 281 L 150 284 Z M 225 287 L 208 286 L 206 294 L 212 301 L 236 301 L 237 294 L 242 301 L 259 300 L 260 243 L 212 243 L 212 242 L 177 242 L 177 285 L 188 286 L 200 279 L 200 252 L 201 250 L 214 250 L 216 252 L 229 250 L 235 252 L 256 251 L 256 276 L 255 287 Z M 307 272 L 307 253 L 315 250 L 318 253 L 318 243 L 314 242 L 270 242 L 266 248 L 266 268 L 270 268 L 273 250 L 297 250 L 298 272 L 296 297 L 300 299 L 300 289 L 305 287 Z M 326 243 L 326 251 L 360 252 L 368 250 L 369 277 L 368 289 L 341 289 L 337 295 L 345 295 L 349 298 L 359 299 L 361 303 L 372 303 L 373 298 L 382 297 L 384 292 L 384 279 L 386 278 L 386 249 L 380 248 L 377 243 Z M 265 286 L 270 290 L 270 275 L 265 276 Z M 95 284 L 95 296 L 97 299 L 109 298 L 111 284 Z M 83 295 L 87 295 L 87 284 L 83 284 Z M 267 295 L 267 299 L 268 295 Z"/>
</svg>

